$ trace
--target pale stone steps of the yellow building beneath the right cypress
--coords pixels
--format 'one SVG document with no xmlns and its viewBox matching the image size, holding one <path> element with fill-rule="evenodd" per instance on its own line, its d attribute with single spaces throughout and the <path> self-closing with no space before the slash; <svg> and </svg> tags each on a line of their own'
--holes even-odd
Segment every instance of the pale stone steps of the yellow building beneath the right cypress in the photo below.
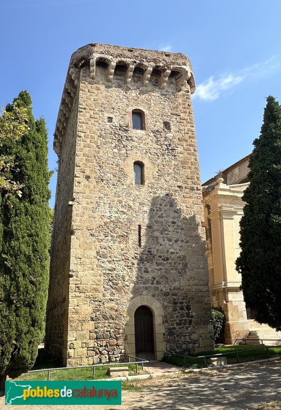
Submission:
<svg viewBox="0 0 281 410">
<path fill-rule="evenodd" d="M 250 332 L 246 339 L 247 344 L 267 344 L 275 346 L 281 344 L 281 332 L 276 332 L 275 329 L 267 324 L 257 323 L 255 320 L 248 320 Z M 269 340 L 272 339 L 272 340 Z"/>
</svg>

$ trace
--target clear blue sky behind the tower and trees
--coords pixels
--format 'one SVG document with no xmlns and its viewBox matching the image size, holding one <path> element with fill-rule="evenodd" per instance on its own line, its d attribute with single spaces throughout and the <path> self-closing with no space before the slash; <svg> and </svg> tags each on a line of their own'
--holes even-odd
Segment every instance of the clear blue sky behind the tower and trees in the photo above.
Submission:
<svg viewBox="0 0 281 410">
<path fill-rule="evenodd" d="M 182 52 L 196 80 L 202 182 L 252 151 L 265 98 L 281 103 L 281 2 L 0 0 L 0 105 L 21 91 L 53 133 L 71 54 L 89 43 Z M 55 197 L 55 175 L 51 181 Z"/>
</svg>

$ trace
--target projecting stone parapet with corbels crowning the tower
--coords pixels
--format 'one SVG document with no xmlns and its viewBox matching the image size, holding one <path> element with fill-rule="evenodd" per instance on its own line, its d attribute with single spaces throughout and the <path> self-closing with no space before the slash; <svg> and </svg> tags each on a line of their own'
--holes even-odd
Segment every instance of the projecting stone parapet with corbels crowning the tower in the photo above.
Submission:
<svg viewBox="0 0 281 410">
<path fill-rule="evenodd" d="M 97 75 L 97 71 L 102 73 Z M 151 92 L 175 94 L 188 84 L 190 93 L 195 91 L 194 77 L 189 58 L 181 53 L 143 50 L 105 44 L 89 44 L 72 54 L 54 134 L 54 150 L 60 154 L 66 135 L 68 118 L 82 70 L 89 72 L 89 82 L 112 85 L 118 70 L 122 69 L 124 87 L 143 88 Z M 132 81 L 138 73 L 140 82 Z M 155 81 L 152 81 L 152 76 Z"/>
</svg>

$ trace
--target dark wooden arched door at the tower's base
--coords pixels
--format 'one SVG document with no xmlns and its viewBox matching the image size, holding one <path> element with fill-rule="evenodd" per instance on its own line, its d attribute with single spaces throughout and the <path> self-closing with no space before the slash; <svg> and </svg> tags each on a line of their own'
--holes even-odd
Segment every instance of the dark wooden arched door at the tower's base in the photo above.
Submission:
<svg viewBox="0 0 281 410">
<path fill-rule="evenodd" d="M 153 313 L 147 306 L 141 305 L 135 312 L 136 357 L 154 360 Z"/>
</svg>

